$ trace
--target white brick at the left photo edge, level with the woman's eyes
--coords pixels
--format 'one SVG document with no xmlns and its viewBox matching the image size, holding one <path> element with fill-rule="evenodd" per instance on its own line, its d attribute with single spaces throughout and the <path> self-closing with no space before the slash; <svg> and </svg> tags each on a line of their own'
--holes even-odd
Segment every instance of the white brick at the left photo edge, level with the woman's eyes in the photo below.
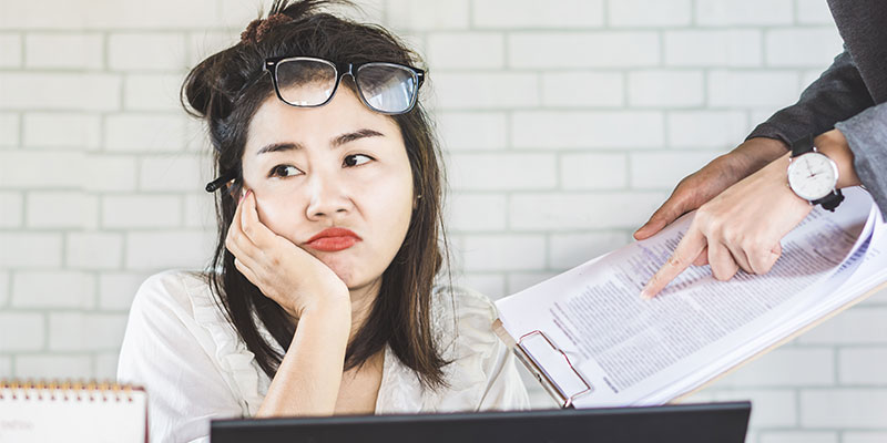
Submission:
<svg viewBox="0 0 887 443">
<path fill-rule="evenodd" d="M 0 188 L 77 188 L 83 155 L 68 152 L 0 151 Z"/>
</svg>

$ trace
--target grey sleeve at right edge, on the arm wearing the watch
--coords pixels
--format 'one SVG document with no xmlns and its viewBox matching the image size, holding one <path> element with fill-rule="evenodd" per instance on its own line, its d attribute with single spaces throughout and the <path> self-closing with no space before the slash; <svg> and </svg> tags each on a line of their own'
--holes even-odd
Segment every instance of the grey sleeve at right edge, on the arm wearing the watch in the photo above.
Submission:
<svg viewBox="0 0 887 443">
<path fill-rule="evenodd" d="M 856 176 L 887 218 L 887 103 L 871 106 L 835 127 L 850 145 Z"/>
</svg>

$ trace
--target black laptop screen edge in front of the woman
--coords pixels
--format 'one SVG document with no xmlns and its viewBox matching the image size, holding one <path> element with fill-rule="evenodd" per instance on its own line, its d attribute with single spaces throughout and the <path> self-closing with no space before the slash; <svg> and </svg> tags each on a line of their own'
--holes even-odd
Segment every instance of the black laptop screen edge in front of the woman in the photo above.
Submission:
<svg viewBox="0 0 887 443">
<path fill-rule="evenodd" d="M 743 443 L 750 402 L 323 419 L 214 420 L 212 443 Z"/>
</svg>

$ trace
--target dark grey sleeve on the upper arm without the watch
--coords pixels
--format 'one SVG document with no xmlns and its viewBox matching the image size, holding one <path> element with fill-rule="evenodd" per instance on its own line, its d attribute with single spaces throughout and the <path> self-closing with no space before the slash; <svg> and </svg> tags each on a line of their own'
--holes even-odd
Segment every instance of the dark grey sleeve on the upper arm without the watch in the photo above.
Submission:
<svg viewBox="0 0 887 443">
<path fill-rule="evenodd" d="M 786 144 L 805 135 L 819 135 L 875 104 L 849 52 L 844 51 L 810 83 L 797 103 L 773 114 L 746 137 L 782 140 Z"/>
</svg>

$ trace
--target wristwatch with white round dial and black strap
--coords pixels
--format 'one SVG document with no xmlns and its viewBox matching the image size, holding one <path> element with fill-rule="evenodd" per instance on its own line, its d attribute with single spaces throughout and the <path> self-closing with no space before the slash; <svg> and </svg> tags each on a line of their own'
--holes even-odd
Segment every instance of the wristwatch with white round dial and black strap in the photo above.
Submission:
<svg viewBox="0 0 887 443">
<path fill-rule="evenodd" d="M 844 200 L 838 183 L 838 165 L 827 155 L 816 150 L 813 136 L 807 135 L 792 143 L 788 158 L 788 187 L 810 205 L 823 205 L 824 209 L 835 212 Z"/>
</svg>

